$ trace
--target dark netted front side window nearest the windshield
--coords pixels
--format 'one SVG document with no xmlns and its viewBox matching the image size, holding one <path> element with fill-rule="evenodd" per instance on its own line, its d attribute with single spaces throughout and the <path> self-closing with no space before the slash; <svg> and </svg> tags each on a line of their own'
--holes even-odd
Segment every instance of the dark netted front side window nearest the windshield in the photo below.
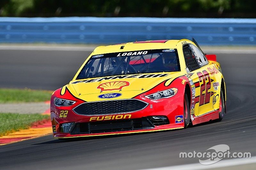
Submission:
<svg viewBox="0 0 256 170">
<path fill-rule="evenodd" d="M 195 55 L 193 55 L 189 47 L 189 44 L 183 45 L 183 55 L 184 55 L 186 66 L 189 71 L 194 71 L 196 69 L 199 69 L 199 66 L 195 59 Z"/>
</svg>

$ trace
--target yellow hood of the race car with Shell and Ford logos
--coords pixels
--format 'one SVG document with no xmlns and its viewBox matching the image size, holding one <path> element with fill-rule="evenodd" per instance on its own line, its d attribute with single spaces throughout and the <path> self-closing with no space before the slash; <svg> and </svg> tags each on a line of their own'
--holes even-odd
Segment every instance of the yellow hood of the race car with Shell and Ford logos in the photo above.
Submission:
<svg viewBox="0 0 256 170">
<path fill-rule="evenodd" d="M 146 92 L 164 80 L 178 77 L 180 72 L 108 76 L 70 81 L 68 90 L 85 101 L 113 100 L 100 98 L 106 93 L 120 93 L 115 99 L 131 99 Z M 111 79 L 110 79 L 111 78 Z"/>
</svg>

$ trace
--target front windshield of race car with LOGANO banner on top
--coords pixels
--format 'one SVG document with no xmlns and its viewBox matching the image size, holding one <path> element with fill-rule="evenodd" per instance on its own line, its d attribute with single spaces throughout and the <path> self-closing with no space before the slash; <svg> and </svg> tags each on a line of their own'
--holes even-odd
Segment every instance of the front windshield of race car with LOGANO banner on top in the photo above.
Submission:
<svg viewBox="0 0 256 170">
<path fill-rule="evenodd" d="M 177 49 L 154 49 L 93 55 L 76 79 L 180 71 Z"/>
</svg>

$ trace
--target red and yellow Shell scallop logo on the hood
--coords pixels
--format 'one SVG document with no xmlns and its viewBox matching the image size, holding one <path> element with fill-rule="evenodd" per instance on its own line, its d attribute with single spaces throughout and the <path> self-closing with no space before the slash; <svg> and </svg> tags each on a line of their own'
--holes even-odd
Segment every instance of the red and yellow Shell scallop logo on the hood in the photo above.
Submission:
<svg viewBox="0 0 256 170">
<path fill-rule="evenodd" d="M 97 89 L 100 89 L 101 91 L 120 90 L 124 86 L 128 86 L 128 85 L 130 85 L 130 83 L 127 81 L 113 81 L 113 82 L 108 82 L 108 83 L 102 83 L 97 87 Z"/>
</svg>

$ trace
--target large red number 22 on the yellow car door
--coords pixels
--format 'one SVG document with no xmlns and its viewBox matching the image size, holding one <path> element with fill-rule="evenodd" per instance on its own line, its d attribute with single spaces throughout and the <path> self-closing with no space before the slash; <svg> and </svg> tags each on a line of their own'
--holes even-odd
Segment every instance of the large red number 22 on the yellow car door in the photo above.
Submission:
<svg viewBox="0 0 256 170">
<path fill-rule="evenodd" d="M 197 76 L 199 78 L 199 82 L 200 83 L 203 82 L 203 84 L 200 86 L 200 95 L 199 95 L 200 96 L 199 106 L 202 106 L 204 104 L 210 103 L 211 92 L 209 92 L 209 89 L 211 89 L 211 78 L 209 76 L 209 73 L 206 70 L 203 70 L 203 73 L 197 72 Z M 207 83 L 205 83 L 206 80 L 207 80 Z"/>
</svg>

